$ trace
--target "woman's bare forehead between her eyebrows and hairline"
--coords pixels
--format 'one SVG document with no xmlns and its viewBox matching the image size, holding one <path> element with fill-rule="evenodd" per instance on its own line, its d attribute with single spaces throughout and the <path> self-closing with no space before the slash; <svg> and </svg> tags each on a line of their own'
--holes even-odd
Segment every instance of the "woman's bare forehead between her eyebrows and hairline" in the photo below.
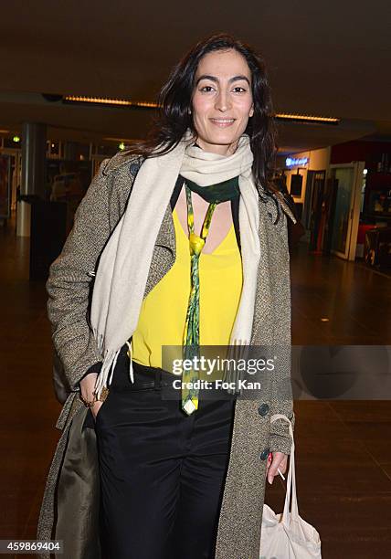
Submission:
<svg viewBox="0 0 391 559">
<path fill-rule="evenodd" d="M 208 52 L 201 58 L 196 70 L 196 77 L 203 74 L 217 76 L 217 78 L 231 78 L 238 75 L 251 78 L 246 58 L 233 48 Z"/>
</svg>

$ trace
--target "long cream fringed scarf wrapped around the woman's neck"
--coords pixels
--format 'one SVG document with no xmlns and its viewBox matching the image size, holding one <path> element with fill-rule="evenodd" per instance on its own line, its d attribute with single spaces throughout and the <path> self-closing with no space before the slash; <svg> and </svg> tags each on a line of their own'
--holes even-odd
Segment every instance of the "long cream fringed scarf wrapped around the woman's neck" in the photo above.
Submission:
<svg viewBox="0 0 391 559">
<path fill-rule="evenodd" d="M 178 174 L 200 186 L 239 176 L 243 287 L 230 344 L 250 343 L 259 266 L 259 195 L 251 172 L 249 137 L 243 134 L 236 152 L 227 156 L 204 152 L 193 143 L 187 130 L 170 153 L 143 162 L 126 210 L 101 253 L 90 314 L 103 355 L 95 385 L 98 396 L 103 386 L 110 385 L 118 354 L 137 327 L 154 243 Z M 132 354 L 130 377 L 134 382 Z"/>
</svg>

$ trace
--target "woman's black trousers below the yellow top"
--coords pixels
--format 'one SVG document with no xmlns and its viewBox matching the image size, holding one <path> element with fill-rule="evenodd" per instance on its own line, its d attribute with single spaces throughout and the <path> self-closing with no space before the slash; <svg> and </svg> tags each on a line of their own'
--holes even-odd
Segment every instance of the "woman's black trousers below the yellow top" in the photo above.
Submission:
<svg viewBox="0 0 391 559">
<path fill-rule="evenodd" d="M 173 374 L 133 362 L 132 385 L 126 349 L 95 423 L 103 559 L 212 559 L 235 396 L 201 390 L 187 416 Z"/>
</svg>

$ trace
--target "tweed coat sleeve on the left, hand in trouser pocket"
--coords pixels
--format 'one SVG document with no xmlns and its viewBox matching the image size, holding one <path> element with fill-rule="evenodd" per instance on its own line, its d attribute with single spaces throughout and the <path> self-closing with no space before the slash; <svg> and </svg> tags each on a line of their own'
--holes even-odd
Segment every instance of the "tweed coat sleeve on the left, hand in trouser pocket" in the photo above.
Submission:
<svg viewBox="0 0 391 559">
<path fill-rule="evenodd" d="M 61 254 L 51 264 L 47 281 L 48 319 L 52 340 L 72 391 L 102 355 L 90 328 L 90 287 L 101 250 L 110 237 L 110 174 L 100 164 L 81 200 Z"/>
</svg>

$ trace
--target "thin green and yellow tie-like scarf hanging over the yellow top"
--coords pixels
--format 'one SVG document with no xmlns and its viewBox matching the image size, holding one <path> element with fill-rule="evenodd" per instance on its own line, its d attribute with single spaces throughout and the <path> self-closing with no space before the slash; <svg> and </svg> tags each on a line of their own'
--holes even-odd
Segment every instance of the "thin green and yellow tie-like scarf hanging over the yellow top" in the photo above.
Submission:
<svg viewBox="0 0 391 559">
<path fill-rule="evenodd" d="M 183 338 L 183 358 L 193 360 L 199 357 L 199 257 L 205 246 L 206 237 L 209 232 L 213 212 L 220 202 L 232 200 L 240 194 L 238 188 L 238 176 L 217 185 L 199 186 L 188 179 L 185 180 L 186 202 L 187 202 L 187 227 L 189 232 L 189 248 L 191 256 L 191 290 L 186 313 L 185 331 Z M 191 193 L 202 196 L 209 206 L 198 237 L 194 230 L 194 213 Z M 187 415 L 198 409 L 198 392 L 196 388 L 187 388 L 185 384 L 194 385 L 198 379 L 198 372 L 194 369 L 184 370 L 182 374 L 182 409 Z"/>
</svg>

